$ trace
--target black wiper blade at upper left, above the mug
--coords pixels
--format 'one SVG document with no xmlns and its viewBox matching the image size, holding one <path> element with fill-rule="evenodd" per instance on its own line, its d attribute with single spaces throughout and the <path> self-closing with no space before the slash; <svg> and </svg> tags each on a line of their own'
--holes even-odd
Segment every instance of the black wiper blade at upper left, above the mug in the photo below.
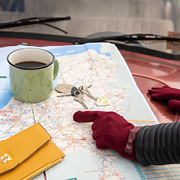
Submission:
<svg viewBox="0 0 180 180">
<path fill-rule="evenodd" d="M 17 27 L 17 26 L 25 26 L 30 24 L 44 24 L 48 22 L 55 22 L 55 21 L 64 21 L 64 20 L 70 20 L 71 17 L 31 17 L 31 18 L 25 18 L 20 19 L 18 21 L 12 21 L 8 23 L 0 23 L 0 29 L 4 28 L 11 28 L 11 27 Z"/>
</svg>

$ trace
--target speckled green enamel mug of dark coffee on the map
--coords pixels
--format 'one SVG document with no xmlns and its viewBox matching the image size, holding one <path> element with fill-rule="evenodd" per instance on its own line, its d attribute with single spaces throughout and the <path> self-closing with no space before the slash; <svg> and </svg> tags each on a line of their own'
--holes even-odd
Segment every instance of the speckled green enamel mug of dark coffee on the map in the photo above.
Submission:
<svg viewBox="0 0 180 180">
<path fill-rule="evenodd" d="M 50 96 L 59 70 L 52 53 L 39 48 L 22 48 L 11 52 L 7 61 L 14 98 L 34 103 Z"/>
</svg>

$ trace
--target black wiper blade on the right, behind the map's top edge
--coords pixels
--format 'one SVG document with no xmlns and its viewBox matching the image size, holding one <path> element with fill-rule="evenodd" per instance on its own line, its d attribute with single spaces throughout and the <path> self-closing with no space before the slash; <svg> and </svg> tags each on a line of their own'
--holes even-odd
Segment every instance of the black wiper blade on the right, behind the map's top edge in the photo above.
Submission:
<svg viewBox="0 0 180 180">
<path fill-rule="evenodd" d="M 101 36 L 98 38 L 82 38 L 74 42 L 74 44 L 84 44 L 88 42 L 103 42 L 107 40 L 133 42 L 138 40 L 149 41 L 149 40 L 168 40 L 168 41 L 180 41 L 180 38 L 161 36 L 156 34 L 128 34 L 128 35 L 117 35 L 117 36 Z"/>
</svg>

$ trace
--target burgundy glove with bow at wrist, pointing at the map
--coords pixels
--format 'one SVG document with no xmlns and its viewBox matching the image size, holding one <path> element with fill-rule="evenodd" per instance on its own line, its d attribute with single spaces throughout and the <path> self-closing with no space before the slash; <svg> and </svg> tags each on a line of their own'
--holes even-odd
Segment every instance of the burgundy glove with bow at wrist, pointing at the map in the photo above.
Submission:
<svg viewBox="0 0 180 180">
<path fill-rule="evenodd" d="M 137 161 L 133 142 L 140 127 L 134 127 L 115 112 L 78 111 L 73 119 L 77 122 L 94 122 L 93 139 L 98 148 L 110 148 L 123 157 Z"/>
</svg>

